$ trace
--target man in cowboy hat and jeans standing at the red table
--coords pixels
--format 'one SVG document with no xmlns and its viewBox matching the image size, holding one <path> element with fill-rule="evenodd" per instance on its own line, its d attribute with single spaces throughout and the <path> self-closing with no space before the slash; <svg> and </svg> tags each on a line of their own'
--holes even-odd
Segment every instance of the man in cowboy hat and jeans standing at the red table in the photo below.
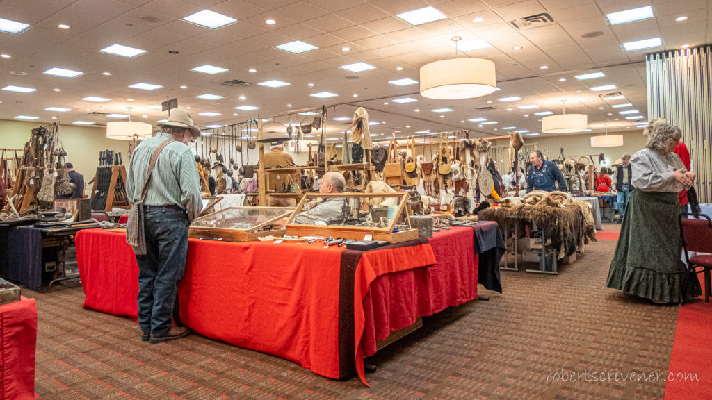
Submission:
<svg viewBox="0 0 712 400">
<path fill-rule="evenodd" d="M 185 110 L 173 110 L 155 137 L 143 140 L 131 156 L 126 179 L 130 201 L 139 201 L 150 160 L 158 154 L 143 202 L 146 254 L 137 255 L 139 274 L 138 323 L 141 338 L 151 343 L 187 336 L 187 327 L 173 327 L 176 284 L 183 278 L 188 252 L 188 226 L 200 213 L 198 168 L 187 144 L 200 130 Z"/>
</svg>

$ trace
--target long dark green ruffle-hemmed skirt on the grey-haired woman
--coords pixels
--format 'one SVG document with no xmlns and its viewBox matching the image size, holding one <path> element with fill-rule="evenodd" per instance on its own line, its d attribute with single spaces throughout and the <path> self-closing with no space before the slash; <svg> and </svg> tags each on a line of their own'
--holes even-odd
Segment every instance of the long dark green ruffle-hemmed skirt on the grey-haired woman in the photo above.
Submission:
<svg viewBox="0 0 712 400">
<path fill-rule="evenodd" d="M 685 282 L 676 192 L 641 191 L 630 196 L 608 271 L 607 286 L 656 302 L 679 302 Z M 702 294 L 689 274 L 685 298 Z"/>
</svg>

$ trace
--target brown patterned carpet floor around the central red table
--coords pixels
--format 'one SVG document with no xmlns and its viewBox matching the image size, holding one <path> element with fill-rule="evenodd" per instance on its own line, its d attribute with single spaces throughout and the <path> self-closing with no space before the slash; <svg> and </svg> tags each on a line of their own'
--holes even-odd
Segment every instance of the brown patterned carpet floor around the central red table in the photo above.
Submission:
<svg viewBox="0 0 712 400">
<path fill-rule="evenodd" d="M 664 380 L 622 377 L 667 372 L 678 307 L 605 288 L 614 246 L 590 244 L 555 276 L 503 272 L 504 295 L 486 293 L 491 300 L 425 318 L 421 330 L 368 359 L 378 367 L 367 374 L 370 388 L 198 335 L 142 342 L 134 322 L 83 310 L 78 285 L 50 294 L 23 290 L 37 299 L 39 311 L 36 394 L 92 400 L 662 399 Z"/>
</svg>

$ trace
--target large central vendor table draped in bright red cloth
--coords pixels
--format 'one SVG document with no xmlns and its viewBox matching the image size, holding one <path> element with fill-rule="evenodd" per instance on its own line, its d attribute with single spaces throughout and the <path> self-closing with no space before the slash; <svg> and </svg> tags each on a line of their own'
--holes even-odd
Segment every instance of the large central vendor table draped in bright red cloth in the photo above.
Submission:
<svg viewBox="0 0 712 400">
<path fill-rule="evenodd" d="M 496 223 L 366 252 L 320 242 L 190 238 L 180 314 L 206 337 L 290 359 L 325 377 L 358 372 L 365 382 L 362 357 L 375 353 L 378 340 L 476 298 L 478 270 L 486 287 L 501 291 L 502 253 Z M 77 258 L 84 307 L 135 318 L 138 268 L 124 235 L 83 231 Z"/>
</svg>

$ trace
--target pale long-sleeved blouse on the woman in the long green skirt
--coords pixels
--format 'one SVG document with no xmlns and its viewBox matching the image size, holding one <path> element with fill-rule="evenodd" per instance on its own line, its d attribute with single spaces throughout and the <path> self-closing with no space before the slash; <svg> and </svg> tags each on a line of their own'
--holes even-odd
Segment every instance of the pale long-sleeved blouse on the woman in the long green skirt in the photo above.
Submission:
<svg viewBox="0 0 712 400">
<path fill-rule="evenodd" d="M 681 191 L 690 189 L 677 181 L 674 171 L 684 169 L 682 160 L 675 153 L 663 154 L 647 147 L 633 154 L 630 159 L 632 165 L 632 183 L 636 189 L 642 191 Z"/>
</svg>

